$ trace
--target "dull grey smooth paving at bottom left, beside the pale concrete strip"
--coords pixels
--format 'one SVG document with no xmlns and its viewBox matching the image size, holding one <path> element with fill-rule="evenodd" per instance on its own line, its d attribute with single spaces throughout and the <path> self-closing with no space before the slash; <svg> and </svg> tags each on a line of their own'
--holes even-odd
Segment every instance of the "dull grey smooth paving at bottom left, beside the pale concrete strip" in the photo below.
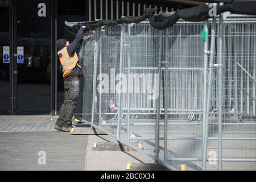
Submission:
<svg viewBox="0 0 256 182">
<path fill-rule="evenodd" d="M 0 170 L 84 170 L 87 138 L 61 132 L 0 133 Z M 38 155 L 46 152 L 46 165 Z"/>
</svg>

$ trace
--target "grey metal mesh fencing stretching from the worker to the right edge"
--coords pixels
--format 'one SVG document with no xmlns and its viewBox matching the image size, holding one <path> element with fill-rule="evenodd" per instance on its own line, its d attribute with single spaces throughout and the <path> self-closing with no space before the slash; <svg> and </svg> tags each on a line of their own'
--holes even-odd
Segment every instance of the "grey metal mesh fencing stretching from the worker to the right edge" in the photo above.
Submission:
<svg viewBox="0 0 256 182">
<path fill-rule="evenodd" d="M 212 24 L 210 20 L 216 41 L 205 48 L 216 51 L 210 56 L 213 64 L 207 61 L 207 75 L 204 56 L 208 52 L 201 39 L 204 22 L 180 20 L 164 31 L 148 22 L 98 28 L 80 51 L 86 77 L 82 118 L 170 169 L 181 164 L 204 169 L 204 149 L 205 169 L 255 169 L 256 19 L 237 15 L 226 19 L 223 48 L 220 20 Z M 209 45 L 211 38 L 209 34 Z M 218 67 L 220 53 L 222 67 Z M 210 83 L 209 103 L 204 96 L 205 78 Z M 218 163 L 218 150 L 222 163 Z"/>
</svg>

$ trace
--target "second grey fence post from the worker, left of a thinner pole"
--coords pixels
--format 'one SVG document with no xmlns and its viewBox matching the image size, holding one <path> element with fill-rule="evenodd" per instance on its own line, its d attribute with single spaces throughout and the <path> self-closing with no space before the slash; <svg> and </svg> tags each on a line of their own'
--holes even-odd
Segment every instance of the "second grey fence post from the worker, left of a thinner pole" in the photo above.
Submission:
<svg viewBox="0 0 256 182">
<path fill-rule="evenodd" d="M 120 38 L 120 65 L 119 74 L 123 71 L 123 24 L 121 25 L 121 38 Z M 121 136 L 121 119 L 122 119 L 122 97 L 121 93 L 118 94 L 118 117 L 117 117 L 117 139 Z"/>
</svg>

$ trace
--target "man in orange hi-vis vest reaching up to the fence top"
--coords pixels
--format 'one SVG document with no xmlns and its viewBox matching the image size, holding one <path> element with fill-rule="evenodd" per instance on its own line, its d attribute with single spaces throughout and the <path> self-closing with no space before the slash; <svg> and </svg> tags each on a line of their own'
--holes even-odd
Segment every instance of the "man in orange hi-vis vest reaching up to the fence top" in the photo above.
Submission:
<svg viewBox="0 0 256 182">
<path fill-rule="evenodd" d="M 60 109 L 60 116 L 55 124 L 55 129 L 60 131 L 71 131 L 72 118 L 77 106 L 79 97 L 80 76 L 82 76 L 82 67 L 77 56 L 76 50 L 84 36 L 82 26 L 71 44 L 65 39 L 59 39 L 56 42 L 57 55 L 63 68 L 64 78 L 64 103 Z"/>
</svg>

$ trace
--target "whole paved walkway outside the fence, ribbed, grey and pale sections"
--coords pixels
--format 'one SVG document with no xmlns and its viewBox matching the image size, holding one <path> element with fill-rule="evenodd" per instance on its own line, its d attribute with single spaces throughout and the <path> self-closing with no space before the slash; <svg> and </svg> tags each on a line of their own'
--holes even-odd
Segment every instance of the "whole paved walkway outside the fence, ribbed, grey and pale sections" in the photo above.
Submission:
<svg viewBox="0 0 256 182">
<path fill-rule="evenodd" d="M 124 171 L 127 163 L 152 162 L 139 152 L 93 151 L 96 142 L 116 141 L 108 135 L 71 135 L 56 131 L 56 118 L 0 116 L 0 171 Z"/>
</svg>

